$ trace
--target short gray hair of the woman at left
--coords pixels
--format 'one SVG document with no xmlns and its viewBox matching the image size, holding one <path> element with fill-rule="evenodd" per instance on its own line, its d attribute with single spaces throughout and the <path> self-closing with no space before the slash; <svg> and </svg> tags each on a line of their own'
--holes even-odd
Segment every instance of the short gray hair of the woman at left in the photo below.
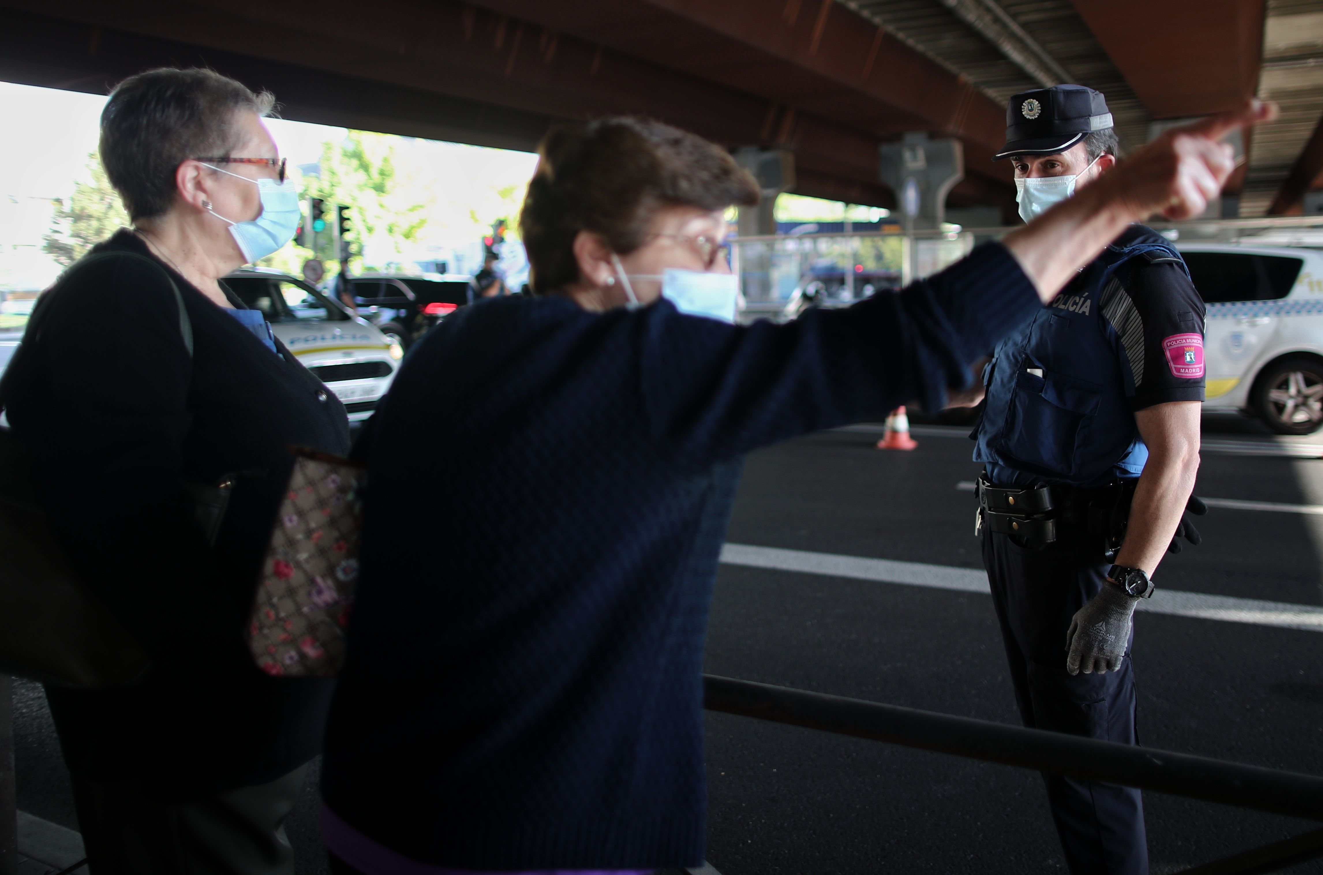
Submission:
<svg viewBox="0 0 1323 875">
<path fill-rule="evenodd" d="M 128 77 L 101 114 L 101 163 L 131 219 L 175 204 L 175 171 L 196 157 L 228 157 L 239 112 L 270 115 L 275 96 L 214 70 L 161 67 Z"/>
</svg>

